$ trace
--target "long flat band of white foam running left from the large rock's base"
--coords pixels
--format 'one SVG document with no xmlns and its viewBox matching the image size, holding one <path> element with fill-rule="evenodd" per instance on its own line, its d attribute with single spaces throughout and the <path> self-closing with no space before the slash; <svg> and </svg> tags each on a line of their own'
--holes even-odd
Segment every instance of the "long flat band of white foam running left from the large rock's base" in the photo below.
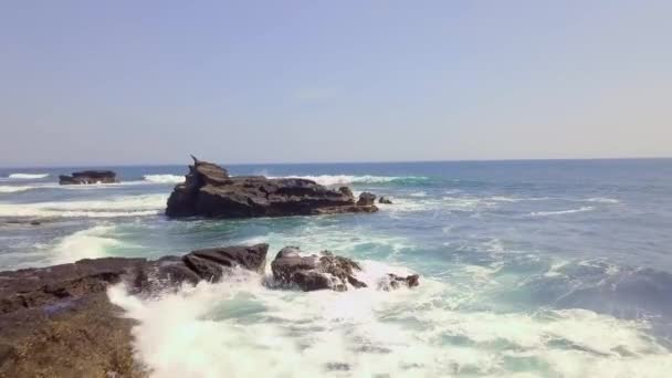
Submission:
<svg viewBox="0 0 672 378">
<path fill-rule="evenodd" d="M 0 203 L 0 217 L 116 218 L 156 216 L 166 208 L 167 198 L 167 195 L 143 195 L 95 201 Z"/>
</svg>

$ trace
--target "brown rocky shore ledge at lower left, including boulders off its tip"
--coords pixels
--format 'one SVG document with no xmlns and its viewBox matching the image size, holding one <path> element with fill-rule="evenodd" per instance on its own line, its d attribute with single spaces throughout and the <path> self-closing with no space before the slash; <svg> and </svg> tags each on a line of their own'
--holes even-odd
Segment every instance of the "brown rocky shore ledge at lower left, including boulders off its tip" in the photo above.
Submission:
<svg viewBox="0 0 672 378">
<path fill-rule="evenodd" d="M 271 290 L 367 287 L 350 259 L 329 252 L 281 250 L 264 276 L 267 244 L 197 250 L 183 256 L 81 260 L 42 269 L 0 272 L 0 377 L 146 377 L 133 355 L 132 327 L 107 297 L 123 283 L 130 294 L 151 297 L 182 284 L 217 282 L 246 270 Z M 369 283 L 370 284 L 370 283 Z M 413 287 L 418 275 L 388 274 L 372 290 Z"/>
</svg>

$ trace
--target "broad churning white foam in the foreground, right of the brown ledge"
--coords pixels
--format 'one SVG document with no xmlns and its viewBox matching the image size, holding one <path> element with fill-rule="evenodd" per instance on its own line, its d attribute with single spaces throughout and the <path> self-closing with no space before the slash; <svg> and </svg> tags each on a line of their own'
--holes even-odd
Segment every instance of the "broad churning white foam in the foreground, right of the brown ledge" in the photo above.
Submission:
<svg viewBox="0 0 672 378">
<path fill-rule="evenodd" d="M 364 276 L 390 270 L 364 262 Z M 666 377 L 672 355 L 642 322 L 584 309 L 494 313 L 450 307 L 445 284 L 345 293 L 274 291 L 246 273 L 140 301 L 136 357 L 153 377 Z M 456 292 L 455 292 L 456 293 Z M 455 340 L 455 342 L 453 342 Z M 517 365 L 516 365 L 517 361 Z M 327 367 L 330 366 L 332 369 Z"/>
</svg>

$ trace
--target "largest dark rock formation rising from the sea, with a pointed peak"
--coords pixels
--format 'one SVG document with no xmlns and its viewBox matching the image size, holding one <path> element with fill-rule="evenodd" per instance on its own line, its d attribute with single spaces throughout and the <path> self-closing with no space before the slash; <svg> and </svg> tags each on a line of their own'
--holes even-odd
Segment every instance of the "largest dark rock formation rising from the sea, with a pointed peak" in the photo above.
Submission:
<svg viewBox="0 0 672 378">
<path fill-rule="evenodd" d="M 193 158 L 186 181 L 175 187 L 168 217 L 251 218 L 374 212 L 347 188 L 332 190 L 315 181 L 263 176 L 230 177 L 225 169 Z"/>
</svg>

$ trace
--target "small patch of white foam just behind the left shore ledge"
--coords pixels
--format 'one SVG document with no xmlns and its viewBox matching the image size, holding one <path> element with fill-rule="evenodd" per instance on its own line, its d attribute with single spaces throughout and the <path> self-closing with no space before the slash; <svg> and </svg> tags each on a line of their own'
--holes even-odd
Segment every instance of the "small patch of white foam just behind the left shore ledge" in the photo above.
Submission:
<svg viewBox="0 0 672 378">
<path fill-rule="evenodd" d="M 82 259 L 106 256 L 107 249 L 122 245 L 118 240 L 111 237 L 114 230 L 114 225 L 96 225 L 61 239 L 53 249 L 53 263 L 64 264 Z"/>
</svg>

